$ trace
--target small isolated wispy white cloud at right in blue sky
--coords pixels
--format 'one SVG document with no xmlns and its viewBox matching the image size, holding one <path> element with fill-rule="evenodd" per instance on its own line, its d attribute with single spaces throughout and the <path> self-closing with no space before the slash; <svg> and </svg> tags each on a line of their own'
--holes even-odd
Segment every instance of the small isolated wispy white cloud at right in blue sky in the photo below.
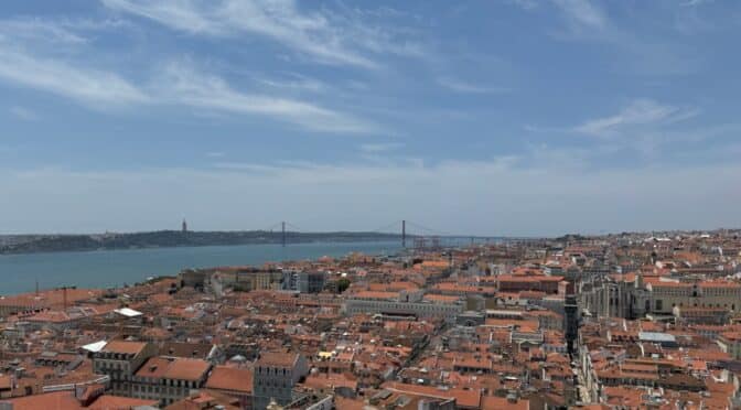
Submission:
<svg viewBox="0 0 741 410">
<path fill-rule="evenodd" d="M 573 131 L 595 137 L 620 134 L 626 128 L 636 126 L 662 126 L 695 117 L 699 110 L 661 105 L 651 99 L 636 99 L 620 112 L 589 120 L 573 128 Z"/>
</svg>

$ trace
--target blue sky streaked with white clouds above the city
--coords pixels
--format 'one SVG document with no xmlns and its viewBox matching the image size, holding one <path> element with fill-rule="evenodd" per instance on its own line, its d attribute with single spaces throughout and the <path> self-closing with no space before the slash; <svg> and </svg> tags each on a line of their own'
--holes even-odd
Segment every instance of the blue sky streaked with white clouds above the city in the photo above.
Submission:
<svg viewBox="0 0 741 410">
<path fill-rule="evenodd" d="M 739 227 L 739 39 L 721 0 L 6 0 L 0 234 Z"/>
</svg>

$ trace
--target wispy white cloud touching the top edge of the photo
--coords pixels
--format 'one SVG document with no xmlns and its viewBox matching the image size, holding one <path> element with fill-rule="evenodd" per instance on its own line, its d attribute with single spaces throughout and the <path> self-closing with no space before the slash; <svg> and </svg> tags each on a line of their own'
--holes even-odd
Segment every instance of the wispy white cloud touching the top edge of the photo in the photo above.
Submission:
<svg viewBox="0 0 741 410">
<path fill-rule="evenodd" d="M 114 10 L 173 30 L 212 36 L 254 34 L 330 64 L 377 68 L 359 50 L 418 55 L 420 50 L 379 28 L 329 12 L 302 12 L 293 0 L 103 0 Z"/>
</svg>

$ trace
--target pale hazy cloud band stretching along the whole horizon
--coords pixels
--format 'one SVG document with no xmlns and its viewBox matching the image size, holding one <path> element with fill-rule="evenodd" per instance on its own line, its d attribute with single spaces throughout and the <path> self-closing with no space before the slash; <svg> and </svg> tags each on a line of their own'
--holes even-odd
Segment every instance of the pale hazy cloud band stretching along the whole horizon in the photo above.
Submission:
<svg viewBox="0 0 741 410">
<path fill-rule="evenodd" d="M 737 163 L 584 172 L 555 159 L 530 169 L 492 159 L 426 166 L 2 170 L 7 201 L 0 202 L 0 215 L 10 231 L 146 230 L 178 223 L 182 214 L 204 229 L 259 228 L 265 220 L 287 219 L 312 230 L 363 230 L 401 218 L 470 235 L 715 228 L 738 219 L 741 192 L 728 187 L 740 173 Z M 60 212 L 50 214 L 50 206 Z"/>
</svg>

